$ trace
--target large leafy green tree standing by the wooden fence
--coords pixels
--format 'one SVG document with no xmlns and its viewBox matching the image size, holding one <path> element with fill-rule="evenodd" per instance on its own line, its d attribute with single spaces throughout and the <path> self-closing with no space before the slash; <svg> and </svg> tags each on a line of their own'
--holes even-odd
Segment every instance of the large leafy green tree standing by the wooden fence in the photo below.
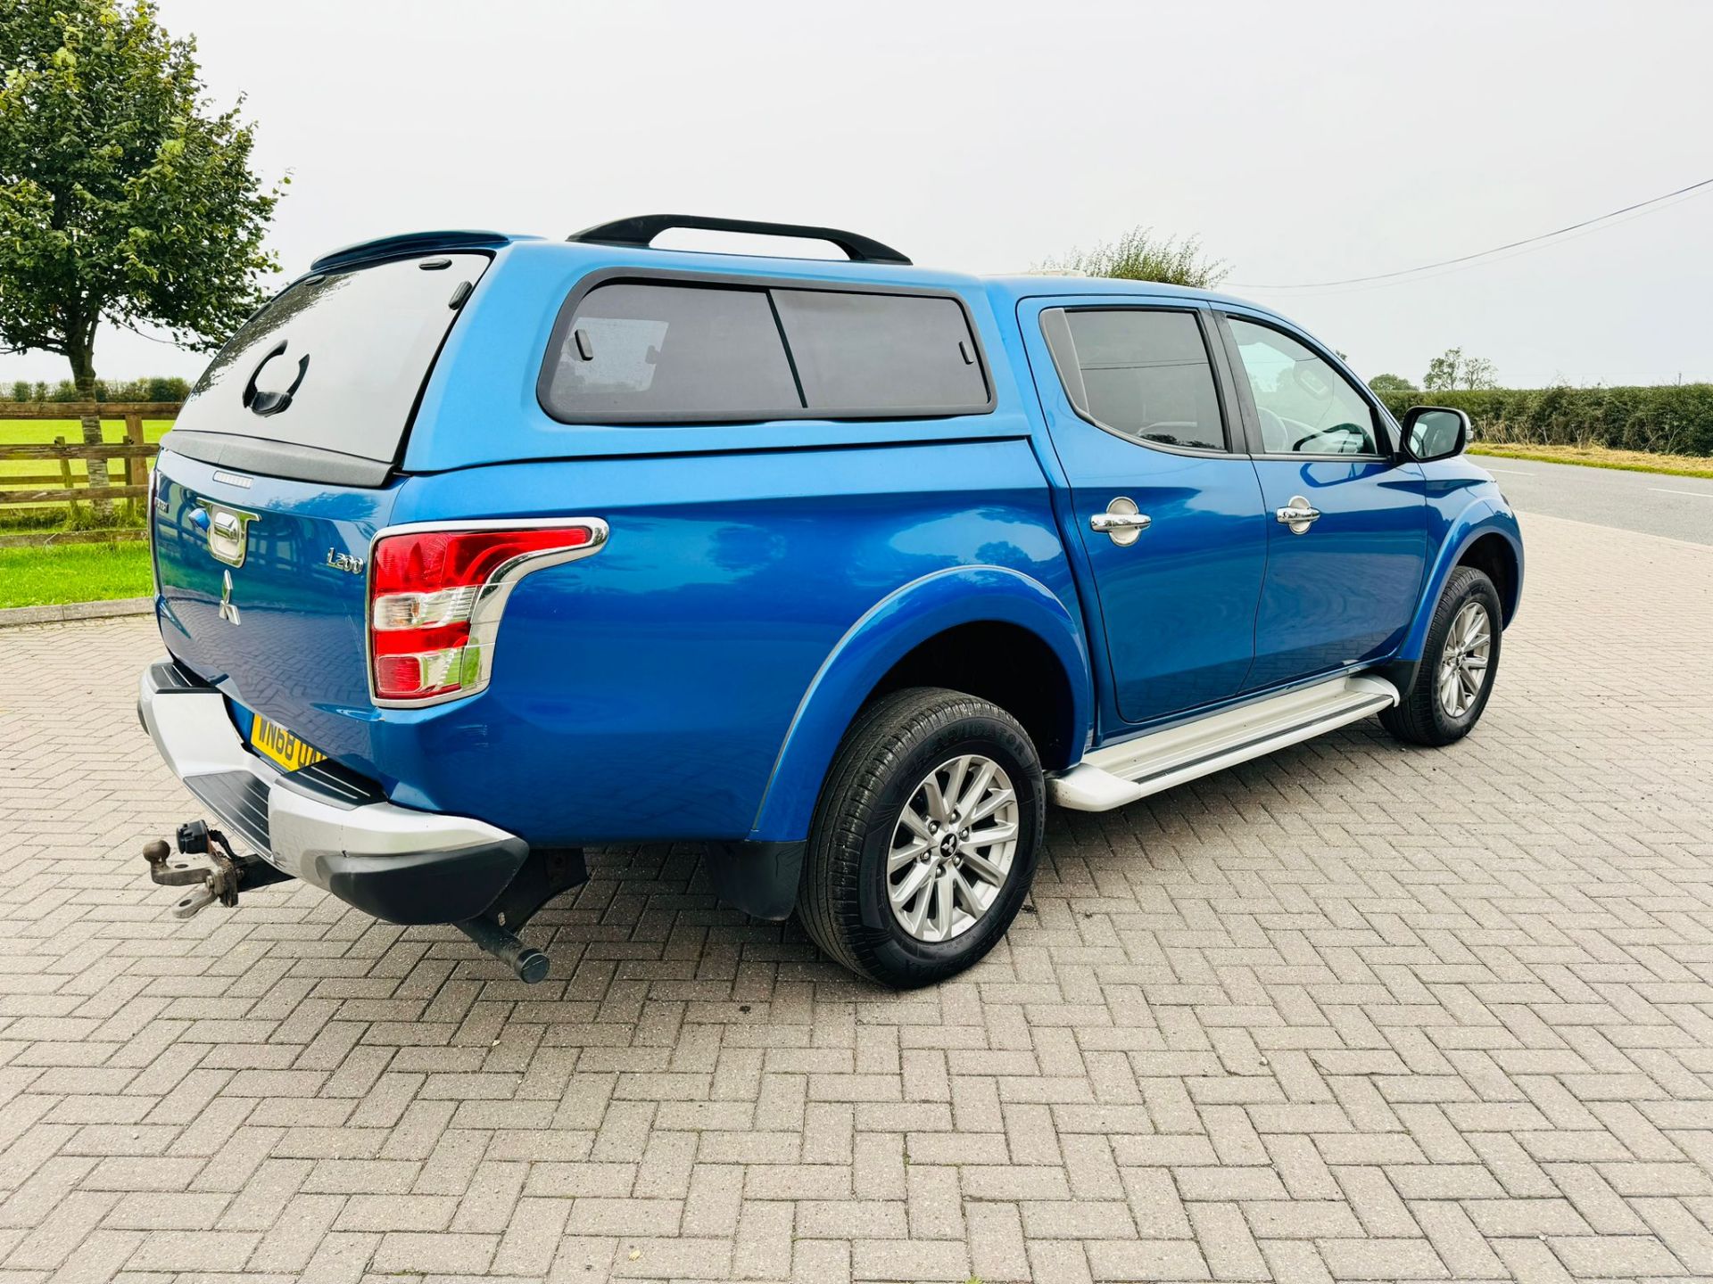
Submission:
<svg viewBox="0 0 1713 1284">
<path fill-rule="evenodd" d="M 195 41 L 171 39 L 154 12 L 0 10 L 0 351 L 58 353 L 81 401 L 94 399 L 103 320 L 207 351 L 278 269 L 262 235 L 281 187 L 250 171 L 254 127 L 238 106 L 211 111 Z M 99 418 L 82 431 L 98 443 Z M 91 462 L 89 484 L 106 484 L 104 466 Z"/>
</svg>

